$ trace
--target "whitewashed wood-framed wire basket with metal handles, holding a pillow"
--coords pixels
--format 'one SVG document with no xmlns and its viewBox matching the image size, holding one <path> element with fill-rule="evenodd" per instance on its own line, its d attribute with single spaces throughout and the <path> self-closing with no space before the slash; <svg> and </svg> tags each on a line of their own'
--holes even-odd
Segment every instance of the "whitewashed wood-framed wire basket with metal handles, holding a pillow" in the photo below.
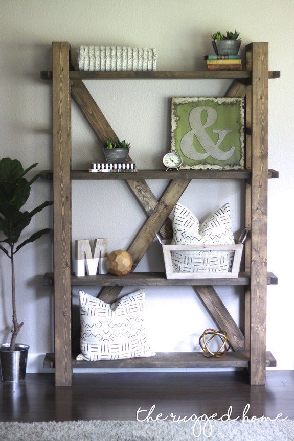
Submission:
<svg viewBox="0 0 294 441">
<path fill-rule="evenodd" d="M 162 245 L 167 278 L 236 278 L 239 275 L 243 243 L 248 230 L 242 231 L 235 245 Z"/>
</svg>

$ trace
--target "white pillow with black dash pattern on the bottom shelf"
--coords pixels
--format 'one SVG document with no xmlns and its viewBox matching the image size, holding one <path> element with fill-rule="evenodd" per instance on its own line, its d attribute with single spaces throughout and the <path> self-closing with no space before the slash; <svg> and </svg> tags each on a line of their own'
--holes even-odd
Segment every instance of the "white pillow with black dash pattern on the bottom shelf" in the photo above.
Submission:
<svg viewBox="0 0 294 441">
<path fill-rule="evenodd" d="M 125 295 L 112 305 L 79 291 L 81 354 L 77 360 L 150 357 L 144 327 L 145 291 Z"/>
</svg>

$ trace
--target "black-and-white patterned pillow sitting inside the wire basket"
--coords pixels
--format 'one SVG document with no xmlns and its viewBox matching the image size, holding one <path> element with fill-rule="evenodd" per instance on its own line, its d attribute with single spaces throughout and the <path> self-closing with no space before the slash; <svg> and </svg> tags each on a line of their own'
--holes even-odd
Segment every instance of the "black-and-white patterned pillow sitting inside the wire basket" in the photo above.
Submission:
<svg viewBox="0 0 294 441">
<path fill-rule="evenodd" d="M 184 205 L 177 203 L 173 213 L 173 240 L 175 245 L 233 245 L 234 235 L 230 206 L 224 204 L 201 225 Z M 234 251 L 195 250 L 171 252 L 174 272 L 230 272 Z"/>
</svg>

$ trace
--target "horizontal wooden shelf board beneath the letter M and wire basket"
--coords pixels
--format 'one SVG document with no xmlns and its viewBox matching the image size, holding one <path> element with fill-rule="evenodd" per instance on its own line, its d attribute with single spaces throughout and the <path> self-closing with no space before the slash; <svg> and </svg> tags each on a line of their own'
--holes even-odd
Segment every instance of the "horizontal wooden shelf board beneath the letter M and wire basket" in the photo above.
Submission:
<svg viewBox="0 0 294 441">
<path fill-rule="evenodd" d="M 248 285 L 250 274 L 240 272 L 238 278 L 199 278 L 199 279 L 167 279 L 163 272 L 130 272 L 124 276 L 111 274 L 86 275 L 84 277 L 71 276 L 72 286 L 203 286 L 203 285 Z M 277 285 L 278 278 L 272 273 L 267 273 L 267 285 Z M 47 272 L 43 278 L 43 285 L 54 285 L 54 275 Z"/>
</svg>

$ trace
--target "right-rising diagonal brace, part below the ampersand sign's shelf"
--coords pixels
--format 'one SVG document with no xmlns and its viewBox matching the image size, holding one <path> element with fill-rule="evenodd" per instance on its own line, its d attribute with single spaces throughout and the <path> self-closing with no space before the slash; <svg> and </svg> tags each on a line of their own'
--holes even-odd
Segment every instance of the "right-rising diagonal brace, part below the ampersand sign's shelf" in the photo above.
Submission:
<svg viewBox="0 0 294 441">
<path fill-rule="evenodd" d="M 144 256 L 145 252 L 153 242 L 156 233 L 160 230 L 163 223 L 166 221 L 167 217 L 171 213 L 174 205 L 182 196 L 186 188 L 190 183 L 189 179 L 186 180 L 172 180 L 169 184 L 167 190 L 164 192 L 163 196 L 157 203 L 152 214 L 147 219 L 138 235 L 132 241 L 131 245 L 128 247 L 127 251 L 131 254 L 133 259 L 132 271 L 137 267 L 138 263 Z M 99 295 L 99 298 L 107 303 L 112 303 L 115 301 L 121 292 L 122 288 L 104 288 Z"/>
</svg>

